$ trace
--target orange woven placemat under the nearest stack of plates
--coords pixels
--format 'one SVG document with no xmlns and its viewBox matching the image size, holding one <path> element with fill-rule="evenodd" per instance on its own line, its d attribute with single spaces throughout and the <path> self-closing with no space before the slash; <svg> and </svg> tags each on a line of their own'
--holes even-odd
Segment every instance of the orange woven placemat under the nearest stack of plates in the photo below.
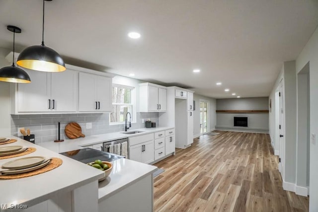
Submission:
<svg viewBox="0 0 318 212">
<path fill-rule="evenodd" d="M 0 179 L 2 180 L 9 180 L 9 179 L 18 179 L 18 178 L 23 178 L 23 177 L 30 177 L 33 175 L 37 175 L 37 174 L 42 174 L 44 172 L 47 171 L 51 171 L 52 169 L 55 169 L 57 167 L 59 167 L 60 165 L 62 165 L 63 160 L 57 157 L 52 157 L 52 160 L 49 164 L 47 164 L 46 166 L 44 166 L 43 168 L 34 170 L 34 171 L 30 171 L 30 172 L 26 172 L 26 173 L 22 173 L 22 174 L 11 174 L 11 175 L 3 175 L 0 176 Z"/>
</svg>

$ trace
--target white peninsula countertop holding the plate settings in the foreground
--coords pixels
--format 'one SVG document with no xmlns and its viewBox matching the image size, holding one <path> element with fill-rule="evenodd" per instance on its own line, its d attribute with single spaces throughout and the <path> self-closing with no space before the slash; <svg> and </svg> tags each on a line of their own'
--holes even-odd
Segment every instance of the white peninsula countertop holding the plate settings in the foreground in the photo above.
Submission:
<svg viewBox="0 0 318 212">
<path fill-rule="evenodd" d="M 58 154 L 57 152 L 16 137 L 8 136 L 6 138 L 16 139 L 17 141 L 0 145 L 1 147 L 22 145 L 35 147 L 36 151 L 20 157 L 1 159 L 0 166 L 7 161 L 29 156 L 58 157 L 63 160 L 63 164 L 51 171 L 31 177 L 0 180 L 1 204 L 25 204 L 31 207 L 50 199 L 56 192 L 72 191 L 75 188 L 96 181 L 104 176 L 103 171 L 93 169 L 86 164 Z M 4 210 L 0 208 L 0 212 L 2 211 Z"/>
</svg>

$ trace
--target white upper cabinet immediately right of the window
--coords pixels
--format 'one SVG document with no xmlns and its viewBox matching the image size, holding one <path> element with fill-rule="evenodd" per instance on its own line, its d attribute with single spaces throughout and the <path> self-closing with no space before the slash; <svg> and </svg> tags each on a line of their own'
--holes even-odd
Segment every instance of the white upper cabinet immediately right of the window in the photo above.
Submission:
<svg viewBox="0 0 318 212">
<path fill-rule="evenodd" d="M 165 112 L 167 89 L 153 83 L 139 84 L 139 112 Z"/>
</svg>

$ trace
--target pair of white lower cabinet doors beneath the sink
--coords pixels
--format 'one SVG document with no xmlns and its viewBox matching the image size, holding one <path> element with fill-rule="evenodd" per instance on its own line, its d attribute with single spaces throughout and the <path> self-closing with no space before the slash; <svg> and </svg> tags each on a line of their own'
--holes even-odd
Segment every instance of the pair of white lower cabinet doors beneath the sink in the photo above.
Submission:
<svg viewBox="0 0 318 212">
<path fill-rule="evenodd" d="M 142 163 L 151 163 L 154 159 L 154 141 L 147 141 L 129 147 L 130 159 Z"/>
</svg>

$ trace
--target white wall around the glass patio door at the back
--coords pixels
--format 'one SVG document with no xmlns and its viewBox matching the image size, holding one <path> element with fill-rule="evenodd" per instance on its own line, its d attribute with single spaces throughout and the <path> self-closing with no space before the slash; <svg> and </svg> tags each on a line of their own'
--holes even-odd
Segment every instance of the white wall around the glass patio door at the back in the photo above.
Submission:
<svg viewBox="0 0 318 212">
<path fill-rule="evenodd" d="M 193 99 L 195 101 L 195 111 L 193 111 L 193 135 L 194 138 L 200 136 L 200 99 L 209 102 L 209 128 L 208 131 L 215 129 L 217 117 L 216 117 L 216 99 L 201 96 L 194 93 Z"/>
</svg>

